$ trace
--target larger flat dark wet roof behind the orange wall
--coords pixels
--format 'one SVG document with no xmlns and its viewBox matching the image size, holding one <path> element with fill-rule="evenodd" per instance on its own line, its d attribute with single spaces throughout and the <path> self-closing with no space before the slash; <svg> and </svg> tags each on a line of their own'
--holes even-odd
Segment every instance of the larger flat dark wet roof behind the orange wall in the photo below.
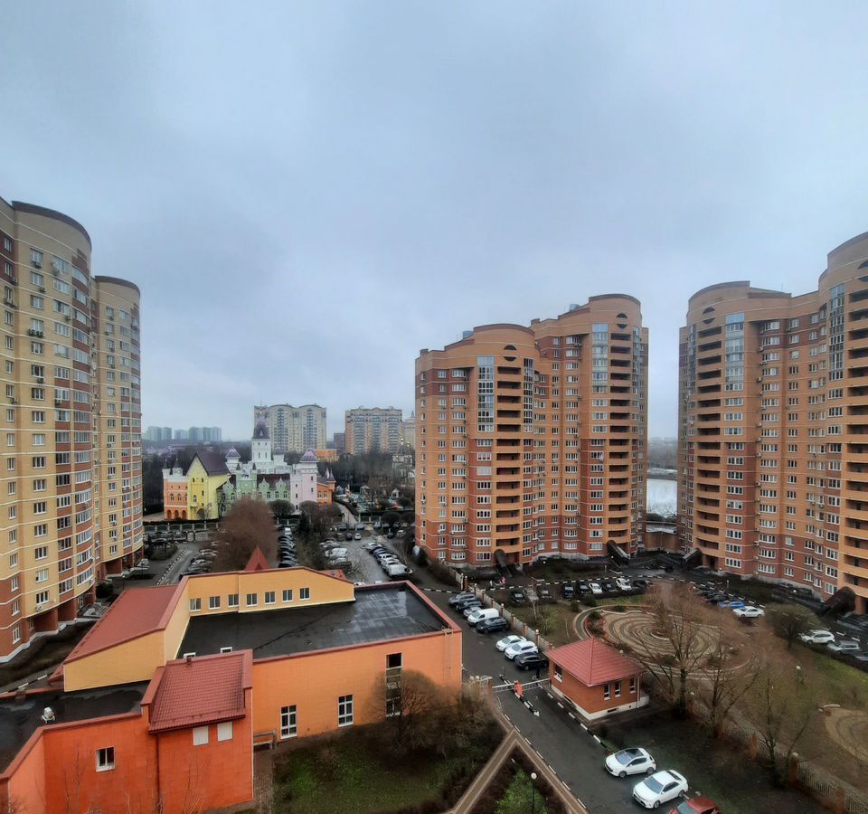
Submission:
<svg viewBox="0 0 868 814">
<path fill-rule="evenodd" d="M 259 607 L 264 597 L 259 594 Z M 280 604 L 280 594 L 277 596 Z M 244 597 L 241 597 L 244 601 Z M 221 613 L 193 617 L 177 658 L 184 653 L 206 656 L 220 648 L 252 650 L 253 658 L 291 656 L 325 648 L 384 639 L 401 639 L 448 627 L 425 602 L 400 583 L 357 588 L 355 601 L 275 611 Z"/>
</svg>

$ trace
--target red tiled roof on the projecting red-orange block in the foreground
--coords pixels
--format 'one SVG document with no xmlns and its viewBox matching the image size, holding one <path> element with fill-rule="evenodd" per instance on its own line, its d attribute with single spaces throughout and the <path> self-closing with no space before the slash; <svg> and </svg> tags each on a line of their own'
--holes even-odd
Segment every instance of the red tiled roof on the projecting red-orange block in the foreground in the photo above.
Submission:
<svg viewBox="0 0 868 814">
<path fill-rule="evenodd" d="M 244 691 L 252 686 L 252 652 L 221 653 L 161 667 L 142 699 L 150 705 L 151 732 L 230 721 L 245 715 Z"/>
</svg>

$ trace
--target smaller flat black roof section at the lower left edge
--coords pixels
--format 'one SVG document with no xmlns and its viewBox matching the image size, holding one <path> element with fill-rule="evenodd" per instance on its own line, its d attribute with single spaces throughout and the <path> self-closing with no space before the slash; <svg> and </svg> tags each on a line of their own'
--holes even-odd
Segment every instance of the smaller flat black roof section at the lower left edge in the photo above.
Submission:
<svg viewBox="0 0 868 814">
<path fill-rule="evenodd" d="M 52 690 L 28 693 L 20 699 L 15 696 L 0 698 L 0 768 L 5 770 L 24 743 L 43 725 L 42 711 L 46 706 L 54 711 L 55 724 L 138 712 L 147 684 L 142 681 L 74 693 Z"/>
</svg>

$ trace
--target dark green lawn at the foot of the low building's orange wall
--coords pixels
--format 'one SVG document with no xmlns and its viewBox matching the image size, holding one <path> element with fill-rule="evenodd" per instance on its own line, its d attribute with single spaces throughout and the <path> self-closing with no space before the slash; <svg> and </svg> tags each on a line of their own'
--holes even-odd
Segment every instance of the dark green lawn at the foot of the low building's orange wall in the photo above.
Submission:
<svg viewBox="0 0 868 814">
<path fill-rule="evenodd" d="M 393 758 L 363 730 L 342 733 L 275 760 L 276 810 L 305 814 L 393 811 L 438 800 L 456 771 L 476 771 L 491 746 L 477 743 L 459 754 Z"/>
</svg>

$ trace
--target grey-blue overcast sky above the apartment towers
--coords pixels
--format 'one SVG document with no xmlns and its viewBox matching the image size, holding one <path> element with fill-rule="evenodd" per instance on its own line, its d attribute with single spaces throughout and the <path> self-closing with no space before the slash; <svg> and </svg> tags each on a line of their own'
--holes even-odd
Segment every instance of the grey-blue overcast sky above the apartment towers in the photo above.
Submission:
<svg viewBox="0 0 868 814">
<path fill-rule="evenodd" d="M 687 298 L 868 230 L 868 4 L 32 2 L 0 196 L 142 290 L 143 428 L 413 406 L 462 329 L 619 291 L 675 435 Z"/>
</svg>

